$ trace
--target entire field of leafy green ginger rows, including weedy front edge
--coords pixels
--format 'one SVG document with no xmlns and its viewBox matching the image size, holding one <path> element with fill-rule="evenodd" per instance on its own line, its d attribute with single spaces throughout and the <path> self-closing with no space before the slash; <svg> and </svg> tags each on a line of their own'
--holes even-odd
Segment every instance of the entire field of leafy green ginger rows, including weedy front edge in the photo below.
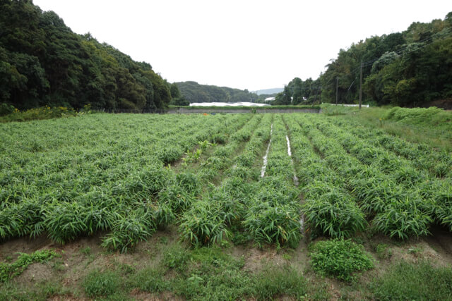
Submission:
<svg viewBox="0 0 452 301">
<path fill-rule="evenodd" d="M 249 285 L 249 290 L 234 290 L 230 295 L 215 295 L 220 284 L 209 288 L 214 295 L 198 292 L 196 285 L 206 287 L 210 282 L 196 271 L 203 271 L 204 257 L 208 257 L 203 252 L 219 252 L 214 257 L 220 266 L 208 257 L 216 271 L 226 269 L 221 264 L 222 256 L 226 256 L 222 249 L 241 246 L 245 250 L 289 252 L 290 257 L 309 262 L 314 278 L 323 275 L 345 283 L 357 281 L 343 272 L 322 270 L 327 261 L 324 258 L 316 264 L 316 258 L 322 258 L 316 252 L 328 249 L 321 243 L 345 244 L 343 248 L 361 254 L 364 248 L 356 246 L 374 238 L 400 246 L 435 238 L 437 231 L 449 237 L 451 166 L 450 152 L 321 114 L 95 113 L 4 123 L 0 124 L 0 240 L 4 246 L 17 241 L 46 241 L 64 250 L 64 246 L 95 238 L 98 252 L 116 256 L 138 254 L 142 252 L 140 245 L 174 242 L 177 247 L 166 253 L 176 254 L 176 259 L 159 253 L 165 271 L 150 272 L 156 277 L 154 283 L 162 281 L 166 286 L 155 284 L 146 290 L 138 284 L 130 285 L 121 294 L 126 292 L 132 299 L 149 297 L 136 293 L 138 288 L 162 299 L 328 299 L 335 295 L 329 284 L 328 289 L 318 285 L 312 288 L 293 264 L 290 271 L 258 269 L 260 274 L 250 272 L 252 278 L 249 271 L 244 272 L 246 262 L 237 263 L 235 255 L 228 254 L 234 255 L 224 259 L 230 264 L 228 269 L 236 276 L 245 273 L 242 276 L 248 277 L 245 282 Z M 309 242 L 309 258 L 293 255 Z M 378 245 L 387 249 L 387 244 Z M 388 259 L 382 247 L 366 247 Z M 191 259 L 184 259 L 184 252 L 190 252 Z M 289 255 L 284 259 L 291 262 Z M 201 267 L 184 266 L 187 262 Z M 357 271 L 374 268 L 375 259 L 364 262 Z M 0 265 L 0 275 L 7 274 L 0 283 L 9 283 L 4 287 L 9 294 L 18 286 L 11 284 L 13 274 L 5 266 Z M 176 276 L 168 276 L 171 269 Z M 425 269 L 435 268 L 427 265 Z M 186 271 L 190 274 L 184 274 Z M 225 271 L 221 271 L 224 276 Z M 78 281 L 84 288 L 81 295 L 59 287 L 45 293 L 44 299 L 54 295 L 62 299 L 69 295 L 114 295 L 90 290 L 90 277 L 108 278 L 108 273 L 101 264 L 84 281 Z M 141 271 L 133 273 L 134 277 L 141 275 Z M 285 279 L 281 280 L 283 285 L 260 295 L 266 290 L 259 285 L 264 285 L 270 275 Z M 180 280 L 178 284 L 179 277 L 188 282 Z M 187 283 L 195 285 L 197 293 L 183 290 L 191 288 Z M 264 285 L 266 289 L 268 285 Z M 348 284 L 331 285 L 350 293 Z M 452 289 L 452 283 L 447 285 Z M 352 295 L 352 299 L 385 299 L 384 292 L 367 286 L 357 290 L 361 293 Z M 170 295 L 162 295 L 165 292 Z M 11 294 L 5 296 L 30 297 Z"/>
</svg>

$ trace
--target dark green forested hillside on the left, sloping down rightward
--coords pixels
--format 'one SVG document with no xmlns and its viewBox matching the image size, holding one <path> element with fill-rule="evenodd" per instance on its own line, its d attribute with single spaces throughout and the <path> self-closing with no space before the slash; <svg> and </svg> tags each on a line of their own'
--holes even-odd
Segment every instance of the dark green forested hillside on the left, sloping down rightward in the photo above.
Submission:
<svg viewBox="0 0 452 301">
<path fill-rule="evenodd" d="M 77 35 L 32 1 L 0 0 L 0 103 L 138 111 L 170 100 L 169 84 L 150 64 Z"/>
</svg>

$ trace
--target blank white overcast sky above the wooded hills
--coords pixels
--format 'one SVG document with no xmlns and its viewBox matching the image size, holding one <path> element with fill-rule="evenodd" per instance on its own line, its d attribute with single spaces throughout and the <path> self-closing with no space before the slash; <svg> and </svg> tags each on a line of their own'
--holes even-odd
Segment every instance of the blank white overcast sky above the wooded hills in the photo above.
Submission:
<svg viewBox="0 0 452 301">
<path fill-rule="evenodd" d="M 444 19 L 451 0 L 35 0 L 73 32 L 91 32 L 169 82 L 260 90 L 317 78 L 339 49 L 415 21 Z"/>
</svg>

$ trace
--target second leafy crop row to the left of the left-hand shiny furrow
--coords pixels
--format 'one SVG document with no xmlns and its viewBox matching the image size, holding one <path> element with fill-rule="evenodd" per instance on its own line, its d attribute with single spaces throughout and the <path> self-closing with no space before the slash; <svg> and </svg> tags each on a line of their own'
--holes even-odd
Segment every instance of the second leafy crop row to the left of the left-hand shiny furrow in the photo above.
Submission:
<svg viewBox="0 0 452 301">
<path fill-rule="evenodd" d="M 136 211 L 126 212 L 118 226 L 105 237 L 102 245 L 126 252 L 129 248 L 135 247 L 139 241 L 147 239 L 158 228 L 169 223 L 183 223 L 189 216 L 188 212 L 196 207 L 199 199 L 206 193 L 206 185 L 203 187 L 201 183 L 211 180 L 227 166 L 229 157 L 237 150 L 239 143 L 249 139 L 250 133 L 260 121 L 261 116 L 253 116 L 244 125 L 237 122 L 222 123 L 220 134 L 215 133 L 211 137 L 212 142 L 220 145 L 215 147 L 212 156 L 202 162 L 197 174 L 191 171 L 174 173 L 171 168 L 160 167 L 160 172 L 164 174 L 160 178 L 148 181 L 148 185 L 159 183 L 152 195 L 143 197 L 148 200 L 148 204 L 144 204 L 144 208 L 138 207 Z M 182 232 L 182 226 L 180 229 Z"/>
</svg>

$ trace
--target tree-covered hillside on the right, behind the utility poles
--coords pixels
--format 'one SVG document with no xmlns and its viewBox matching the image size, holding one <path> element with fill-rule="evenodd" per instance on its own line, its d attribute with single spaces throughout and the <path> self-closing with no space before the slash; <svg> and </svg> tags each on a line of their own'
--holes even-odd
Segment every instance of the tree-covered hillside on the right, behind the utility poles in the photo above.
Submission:
<svg viewBox="0 0 452 301">
<path fill-rule="evenodd" d="M 421 106 L 437 99 L 452 99 L 452 12 L 444 20 L 415 22 L 404 32 L 374 36 L 340 49 L 316 80 L 294 78 L 275 104 L 335 102 L 359 99 L 359 69 L 362 97 L 372 104 Z M 321 94 L 321 95 L 320 95 Z"/>
</svg>

